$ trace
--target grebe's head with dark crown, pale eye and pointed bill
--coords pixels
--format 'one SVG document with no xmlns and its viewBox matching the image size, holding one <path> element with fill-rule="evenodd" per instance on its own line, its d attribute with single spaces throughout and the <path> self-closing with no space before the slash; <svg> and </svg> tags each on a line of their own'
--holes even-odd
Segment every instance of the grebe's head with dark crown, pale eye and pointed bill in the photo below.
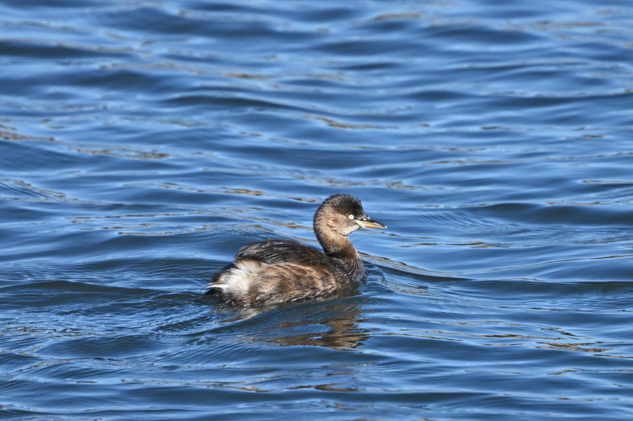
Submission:
<svg viewBox="0 0 633 421">
<path fill-rule="evenodd" d="M 316 210 L 314 227 L 317 233 L 329 231 L 342 236 L 347 236 L 360 228 L 387 228 L 365 214 L 358 198 L 341 193 L 323 201 Z"/>
</svg>

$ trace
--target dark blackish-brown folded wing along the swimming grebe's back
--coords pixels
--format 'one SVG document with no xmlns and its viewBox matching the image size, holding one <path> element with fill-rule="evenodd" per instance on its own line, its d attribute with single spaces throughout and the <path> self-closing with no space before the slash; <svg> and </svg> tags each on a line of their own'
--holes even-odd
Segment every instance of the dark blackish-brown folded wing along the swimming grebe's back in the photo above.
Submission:
<svg viewBox="0 0 633 421">
<path fill-rule="evenodd" d="M 253 259 L 265 264 L 301 263 L 325 265 L 325 267 L 330 265 L 325 253 L 294 240 L 255 241 L 239 250 L 235 255 L 235 260 L 239 259 Z"/>
</svg>

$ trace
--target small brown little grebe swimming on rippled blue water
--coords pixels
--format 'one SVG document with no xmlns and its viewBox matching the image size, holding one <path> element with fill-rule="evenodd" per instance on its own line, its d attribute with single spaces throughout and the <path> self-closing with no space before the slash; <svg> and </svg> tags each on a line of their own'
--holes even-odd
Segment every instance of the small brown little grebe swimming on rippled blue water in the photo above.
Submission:
<svg viewBox="0 0 633 421">
<path fill-rule="evenodd" d="M 360 228 L 387 228 L 365 214 L 358 198 L 340 193 L 323 201 L 313 226 L 325 253 L 292 240 L 247 244 L 213 276 L 206 294 L 242 306 L 330 295 L 365 272 L 348 235 Z"/>
</svg>

